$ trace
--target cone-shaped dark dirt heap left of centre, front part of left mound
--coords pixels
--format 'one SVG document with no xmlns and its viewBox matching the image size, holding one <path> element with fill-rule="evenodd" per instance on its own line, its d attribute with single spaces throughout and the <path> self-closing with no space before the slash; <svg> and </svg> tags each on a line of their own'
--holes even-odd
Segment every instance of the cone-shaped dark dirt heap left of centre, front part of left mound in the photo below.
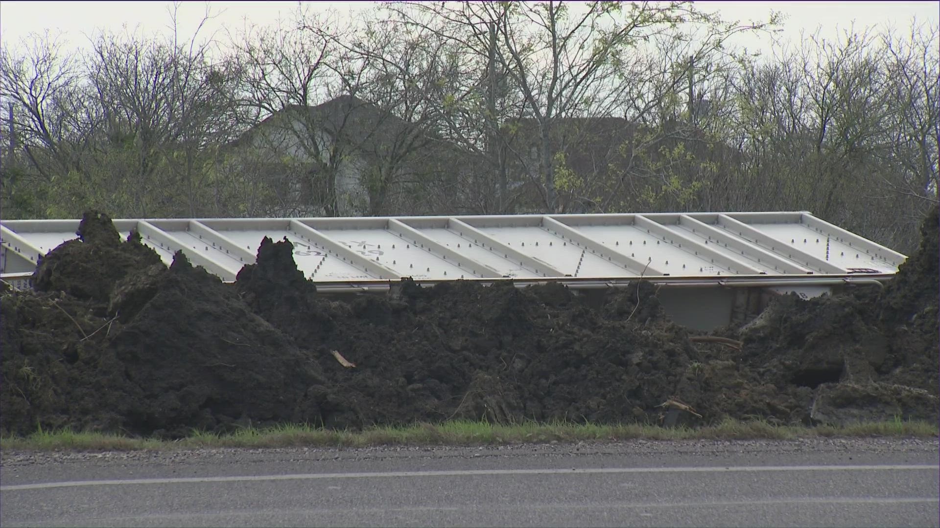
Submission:
<svg viewBox="0 0 940 528">
<path fill-rule="evenodd" d="M 251 313 L 218 277 L 177 253 L 141 287 L 153 296 L 136 298 L 136 315 L 107 343 L 143 393 L 129 428 L 179 434 L 320 416 L 309 394 L 323 382 L 316 358 Z"/>
</svg>

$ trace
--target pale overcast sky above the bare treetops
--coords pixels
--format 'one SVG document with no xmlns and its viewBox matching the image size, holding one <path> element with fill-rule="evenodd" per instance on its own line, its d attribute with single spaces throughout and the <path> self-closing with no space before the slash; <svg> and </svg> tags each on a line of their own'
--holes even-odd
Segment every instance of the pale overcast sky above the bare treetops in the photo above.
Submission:
<svg viewBox="0 0 940 528">
<path fill-rule="evenodd" d="M 273 23 L 278 17 L 287 18 L 297 2 L 210 2 L 215 17 L 207 29 L 211 33 L 222 27 L 241 27 L 247 19 L 251 23 Z M 315 9 L 336 9 L 341 13 L 368 8 L 371 2 L 314 2 Z M 120 30 L 127 24 L 139 26 L 145 32 L 165 30 L 169 22 L 167 8 L 171 2 L 15 2 L 0 3 L 0 39 L 4 44 L 16 42 L 30 32 L 47 29 L 61 31 L 75 45 L 84 45 L 85 35 L 96 29 Z M 937 23 L 940 20 L 940 2 L 696 2 L 702 10 L 717 10 L 726 20 L 765 19 L 770 10 L 787 15 L 782 39 L 798 40 L 801 30 L 820 29 L 823 38 L 832 39 L 849 28 L 882 26 L 885 23 L 899 28 L 917 21 Z M 180 7 L 180 29 L 189 36 L 205 12 L 205 3 L 186 2 Z M 762 42 L 767 42 L 763 39 Z M 763 47 L 760 39 L 748 38 L 740 42 L 755 50 Z"/>
</svg>

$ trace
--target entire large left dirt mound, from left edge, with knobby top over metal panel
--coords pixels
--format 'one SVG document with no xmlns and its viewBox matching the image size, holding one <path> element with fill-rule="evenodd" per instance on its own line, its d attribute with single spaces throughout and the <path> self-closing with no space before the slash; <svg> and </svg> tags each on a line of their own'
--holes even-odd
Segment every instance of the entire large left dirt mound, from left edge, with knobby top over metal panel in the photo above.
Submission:
<svg viewBox="0 0 940 528">
<path fill-rule="evenodd" d="M 316 358 L 181 253 L 167 269 L 139 241 L 116 242 L 110 222 L 91 225 L 43 259 L 37 274 L 57 291 L 0 298 L 0 430 L 180 436 L 319 418 Z"/>
</svg>

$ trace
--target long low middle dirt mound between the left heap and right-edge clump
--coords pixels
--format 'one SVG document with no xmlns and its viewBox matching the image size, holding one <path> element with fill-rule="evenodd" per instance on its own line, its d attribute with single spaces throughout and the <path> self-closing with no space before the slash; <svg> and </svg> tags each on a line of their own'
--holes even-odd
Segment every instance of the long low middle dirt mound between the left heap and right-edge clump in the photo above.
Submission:
<svg viewBox="0 0 940 528">
<path fill-rule="evenodd" d="M 606 292 L 599 307 L 560 285 L 423 288 L 410 280 L 390 297 L 339 303 L 293 278 L 291 254 L 289 241 L 262 242 L 235 287 L 258 315 L 318 353 L 331 381 L 322 393 L 328 426 L 656 421 L 669 399 L 713 419 L 794 421 L 809 410 L 810 391 L 776 396 L 753 372 L 722 363 L 723 352 L 699 352 L 646 283 Z M 334 361 L 333 350 L 355 367 Z M 729 390 L 737 397 L 726 397 Z"/>
</svg>

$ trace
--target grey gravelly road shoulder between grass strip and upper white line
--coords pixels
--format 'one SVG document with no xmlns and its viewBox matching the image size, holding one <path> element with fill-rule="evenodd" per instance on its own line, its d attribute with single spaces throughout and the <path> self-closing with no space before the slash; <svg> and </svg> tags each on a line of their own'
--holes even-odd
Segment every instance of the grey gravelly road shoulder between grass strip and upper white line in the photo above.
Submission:
<svg viewBox="0 0 940 528">
<path fill-rule="evenodd" d="M 0 481 L 23 484 L 96 478 L 448 470 L 475 458 L 480 468 L 680 467 L 698 465 L 940 465 L 940 443 L 923 439 L 643 441 L 493 446 L 169 449 L 132 452 L 0 453 Z"/>
</svg>

